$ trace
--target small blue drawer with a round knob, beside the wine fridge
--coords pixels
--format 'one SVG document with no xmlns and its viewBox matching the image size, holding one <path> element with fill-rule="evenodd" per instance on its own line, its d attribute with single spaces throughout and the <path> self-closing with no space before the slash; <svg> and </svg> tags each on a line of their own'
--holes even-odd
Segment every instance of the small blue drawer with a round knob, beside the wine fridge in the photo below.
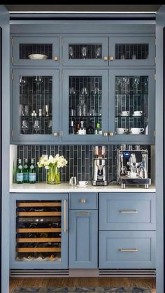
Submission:
<svg viewBox="0 0 165 293">
<path fill-rule="evenodd" d="M 96 209 L 97 194 L 93 192 L 74 192 L 70 194 L 69 208 L 70 209 Z"/>
</svg>

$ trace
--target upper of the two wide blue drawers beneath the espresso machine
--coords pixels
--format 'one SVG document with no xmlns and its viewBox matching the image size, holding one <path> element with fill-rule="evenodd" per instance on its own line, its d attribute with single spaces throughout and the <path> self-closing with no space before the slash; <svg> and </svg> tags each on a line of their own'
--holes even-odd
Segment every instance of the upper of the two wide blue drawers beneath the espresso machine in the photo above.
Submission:
<svg viewBox="0 0 165 293">
<path fill-rule="evenodd" d="M 100 230 L 155 230 L 155 194 L 100 193 Z"/>
</svg>

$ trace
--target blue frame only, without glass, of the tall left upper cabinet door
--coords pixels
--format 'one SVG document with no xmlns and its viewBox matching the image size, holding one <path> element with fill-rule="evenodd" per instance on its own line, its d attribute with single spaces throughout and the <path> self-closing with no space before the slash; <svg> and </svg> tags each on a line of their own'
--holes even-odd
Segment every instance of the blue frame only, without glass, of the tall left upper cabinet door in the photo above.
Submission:
<svg viewBox="0 0 165 293">
<path fill-rule="evenodd" d="M 59 70 L 14 69 L 13 74 L 13 141 L 59 141 Z M 52 134 L 20 134 L 20 76 L 52 76 Z"/>
</svg>

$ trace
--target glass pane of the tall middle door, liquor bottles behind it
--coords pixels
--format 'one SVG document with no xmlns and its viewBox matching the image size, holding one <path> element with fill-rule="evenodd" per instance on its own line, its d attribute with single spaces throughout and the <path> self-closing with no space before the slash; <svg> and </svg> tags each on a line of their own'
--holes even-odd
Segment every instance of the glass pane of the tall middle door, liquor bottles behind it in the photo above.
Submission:
<svg viewBox="0 0 165 293">
<path fill-rule="evenodd" d="M 69 134 L 102 134 L 102 77 L 69 77 Z"/>
</svg>

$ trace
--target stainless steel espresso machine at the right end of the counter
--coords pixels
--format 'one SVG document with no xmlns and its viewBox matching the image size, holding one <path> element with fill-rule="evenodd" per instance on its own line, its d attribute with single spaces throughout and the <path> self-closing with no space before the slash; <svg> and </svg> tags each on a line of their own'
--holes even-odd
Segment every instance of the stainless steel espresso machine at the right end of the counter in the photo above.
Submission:
<svg viewBox="0 0 165 293">
<path fill-rule="evenodd" d="M 117 182 L 125 185 L 148 185 L 148 150 L 117 150 Z"/>
</svg>

